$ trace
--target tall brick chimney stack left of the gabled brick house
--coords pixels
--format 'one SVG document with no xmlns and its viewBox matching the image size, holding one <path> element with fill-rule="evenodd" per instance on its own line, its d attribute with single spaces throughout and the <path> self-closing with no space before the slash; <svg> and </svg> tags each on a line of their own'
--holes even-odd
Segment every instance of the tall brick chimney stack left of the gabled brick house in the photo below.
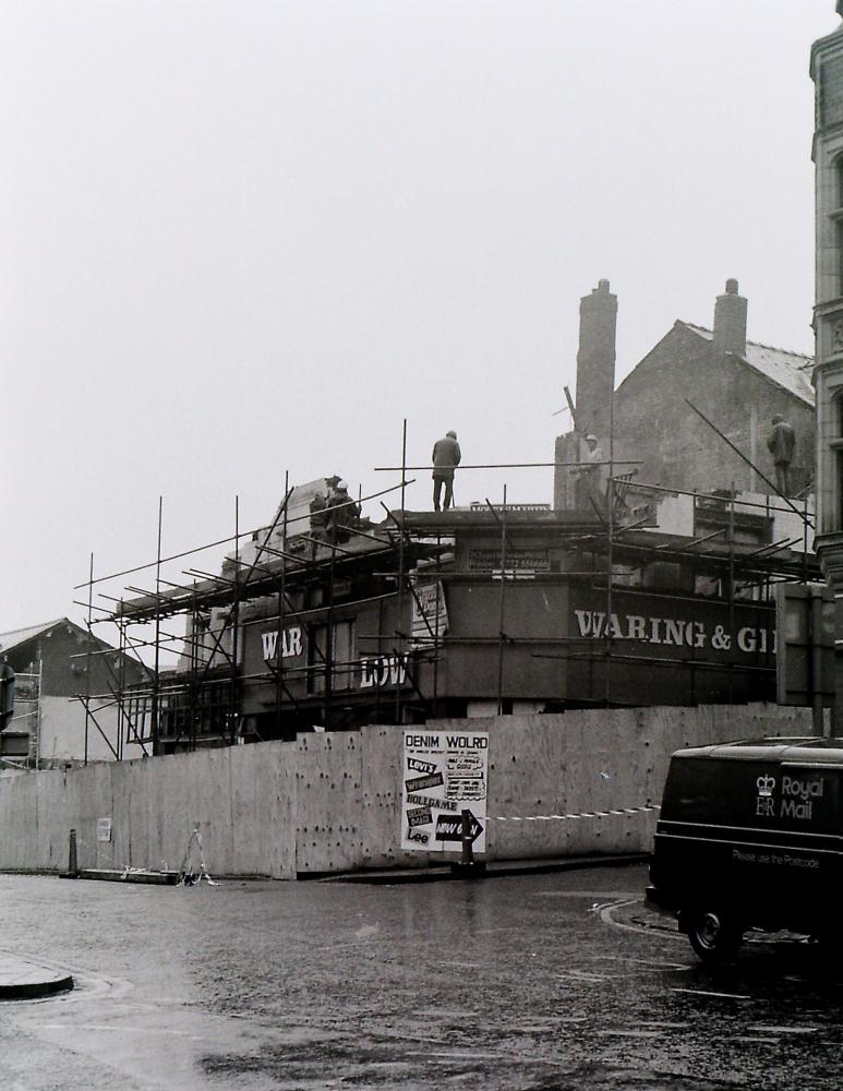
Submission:
<svg viewBox="0 0 843 1091">
<path fill-rule="evenodd" d="M 598 419 L 609 417 L 615 387 L 615 329 L 617 296 L 609 280 L 600 280 L 579 302 L 577 351 L 577 424 L 580 431 L 598 430 Z"/>
</svg>

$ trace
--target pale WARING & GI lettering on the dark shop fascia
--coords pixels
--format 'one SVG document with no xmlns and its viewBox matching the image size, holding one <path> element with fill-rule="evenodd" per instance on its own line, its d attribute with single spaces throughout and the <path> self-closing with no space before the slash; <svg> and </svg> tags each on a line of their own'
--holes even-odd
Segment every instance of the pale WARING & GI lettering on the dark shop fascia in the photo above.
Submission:
<svg viewBox="0 0 843 1091">
<path fill-rule="evenodd" d="M 587 639 L 636 640 L 664 647 L 740 651 L 744 655 L 775 655 L 775 630 L 763 625 L 730 627 L 708 620 L 663 618 L 655 614 L 612 613 L 575 610 L 577 635 Z"/>
</svg>

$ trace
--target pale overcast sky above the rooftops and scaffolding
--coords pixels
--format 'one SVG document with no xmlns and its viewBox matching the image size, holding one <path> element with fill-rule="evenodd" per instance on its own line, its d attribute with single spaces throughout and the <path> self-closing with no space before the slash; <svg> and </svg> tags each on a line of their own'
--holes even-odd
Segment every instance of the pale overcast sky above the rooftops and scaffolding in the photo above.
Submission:
<svg viewBox="0 0 843 1091">
<path fill-rule="evenodd" d="M 750 339 L 811 352 L 808 58 L 838 25 L 833 0 L 0 0 L 0 631 L 82 622 L 89 554 L 154 559 L 159 495 L 176 553 L 232 535 L 236 496 L 241 531 L 269 521 L 285 471 L 397 484 L 405 418 L 409 465 L 449 428 L 466 463 L 552 461 L 600 278 L 618 379 L 727 277 Z M 457 503 L 505 483 L 552 499 L 550 469 L 466 470 Z"/>
</svg>

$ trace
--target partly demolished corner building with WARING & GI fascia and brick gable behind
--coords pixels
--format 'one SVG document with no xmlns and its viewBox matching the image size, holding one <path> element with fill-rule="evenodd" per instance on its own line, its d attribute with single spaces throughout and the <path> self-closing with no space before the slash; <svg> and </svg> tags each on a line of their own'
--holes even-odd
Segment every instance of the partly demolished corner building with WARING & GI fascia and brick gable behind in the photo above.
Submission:
<svg viewBox="0 0 843 1091">
<path fill-rule="evenodd" d="M 811 395 L 806 358 L 747 343 L 746 301 L 733 283 L 726 297 L 713 332 L 677 323 L 614 398 L 616 299 L 605 281 L 586 297 L 553 505 L 401 502 L 373 523 L 369 497 L 325 478 L 236 533 L 216 574 L 165 580 L 157 558 L 155 587 L 129 587 L 101 619 L 121 651 L 155 657 L 144 682 L 109 691 L 121 730 L 158 754 L 434 717 L 774 700 L 775 585 L 819 578 Z M 699 406 L 682 376 L 703 359 Z M 683 395 L 687 465 L 669 427 L 678 403 L 665 395 L 640 425 L 653 384 Z M 735 392 L 756 387 L 742 432 Z M 781 493 L 762 455 L 774 411 L 796 433 Z M 107 695 L 81 699 L 94 696 Z"/>
</svg>

